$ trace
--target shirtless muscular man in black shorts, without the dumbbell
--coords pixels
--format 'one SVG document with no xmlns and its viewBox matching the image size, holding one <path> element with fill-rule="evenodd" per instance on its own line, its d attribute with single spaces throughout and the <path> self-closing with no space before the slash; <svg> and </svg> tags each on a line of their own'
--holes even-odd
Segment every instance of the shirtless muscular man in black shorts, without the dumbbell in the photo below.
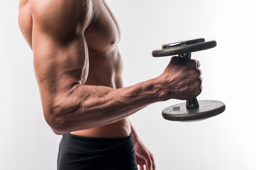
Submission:
<svg viewBox="0 0 256 170">
<path fill-rule="evenodd" d="M 104 0 L 20 0 L 18 22 L 33 51 L 45 120 L 63 135 L 58 169 L 155 169 L 128 116 L 198 96 L 198 61 L 173 57 L 160 76 L 124 87 L 120 29 Z"/>
</svg>

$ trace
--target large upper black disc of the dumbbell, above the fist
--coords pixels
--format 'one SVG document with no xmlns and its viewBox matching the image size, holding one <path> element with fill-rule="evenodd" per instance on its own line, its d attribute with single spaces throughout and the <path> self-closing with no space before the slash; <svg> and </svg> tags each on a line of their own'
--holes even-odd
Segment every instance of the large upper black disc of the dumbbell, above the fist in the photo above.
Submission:
<svg viewBox="0 0 256 170">
<path fill-rule="evenodd" d="M 183 44 L 180 46 L 164 47 L 162 49 L 153 50 L 152 56 L 162 57 L 162 56 L 173 56 L 178 54 L 191 53 L 195 51 L 210 49 L 210 48 L 216 47 L 216 45 L 217 45 L 217 42 L 215 40 L 208 40 L 204 42 L 192 43 L 189 45 Z"/>
</svg>

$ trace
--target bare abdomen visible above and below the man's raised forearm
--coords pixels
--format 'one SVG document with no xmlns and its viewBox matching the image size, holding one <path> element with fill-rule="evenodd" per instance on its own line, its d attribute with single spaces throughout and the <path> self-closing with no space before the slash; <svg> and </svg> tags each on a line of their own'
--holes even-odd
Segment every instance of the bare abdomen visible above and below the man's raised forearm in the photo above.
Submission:
<svg viewBox="0 0 256 170">
<path fill-rule="evenodd" d="M 89 74 L 86 85 L 103 85 L 113 89 L 123 87 L 121 78 L 123 70 L 121 55 L 117 47 L 105 52 L 95 52 L 89 49 Z M 87 130 L 71 132 L 74 135 L 94 138 L 126 137 L 131 133 L 130 121 L 122 119 L 109 125 Z"/>
</svg>

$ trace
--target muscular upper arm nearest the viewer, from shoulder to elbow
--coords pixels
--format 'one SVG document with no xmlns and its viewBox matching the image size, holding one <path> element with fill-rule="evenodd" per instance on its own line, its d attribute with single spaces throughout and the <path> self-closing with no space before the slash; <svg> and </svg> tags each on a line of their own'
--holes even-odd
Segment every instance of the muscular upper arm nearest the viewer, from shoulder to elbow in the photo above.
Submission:
<svg viewBox="0 0 256 170">
<path fill-rule="evenodd" d="M 31 4 L 34 70 L 44 113 L 54 102 L 85 82 L 88 49 L 84 30 L 90 23 L 85 0 L 44 0 Z"/>
</svg>

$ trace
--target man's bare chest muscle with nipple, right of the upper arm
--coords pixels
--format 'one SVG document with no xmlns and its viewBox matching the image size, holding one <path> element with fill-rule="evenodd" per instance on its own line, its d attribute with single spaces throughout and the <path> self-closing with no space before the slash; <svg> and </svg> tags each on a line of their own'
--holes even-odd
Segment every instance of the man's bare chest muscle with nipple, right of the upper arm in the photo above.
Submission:
<svg viewBox="0 0 256 170">
<path fill-rule="evenodd" d="M 94 19 L 85 29 L 88 49 L 108 51 L 119 42 L 119 25 L 104 1 L 94 1 Z"/>
</svg>

